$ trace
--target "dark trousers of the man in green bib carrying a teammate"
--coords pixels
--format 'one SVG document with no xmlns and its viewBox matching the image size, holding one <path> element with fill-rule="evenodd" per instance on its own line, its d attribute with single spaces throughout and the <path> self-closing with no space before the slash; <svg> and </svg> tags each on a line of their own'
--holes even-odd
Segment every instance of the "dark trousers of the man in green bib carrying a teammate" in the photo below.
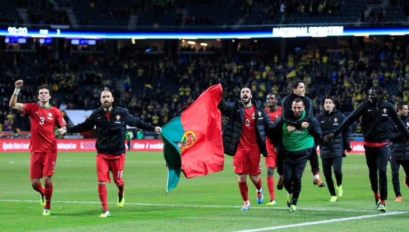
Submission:
<svg viewBox="0 0 409 232">
<path fill-rule="evenodd" d="M 292 205 L 297 205 L 301 192 L 301 178 L 311 150 L 312 148 L 294 152 L 287 151 L 285 154 L 283 160 L 284 188 L 289 194 L 292 194 Z M 296 159 L 292 160 L 291 157 L 296 157 Z"/>
</svg>

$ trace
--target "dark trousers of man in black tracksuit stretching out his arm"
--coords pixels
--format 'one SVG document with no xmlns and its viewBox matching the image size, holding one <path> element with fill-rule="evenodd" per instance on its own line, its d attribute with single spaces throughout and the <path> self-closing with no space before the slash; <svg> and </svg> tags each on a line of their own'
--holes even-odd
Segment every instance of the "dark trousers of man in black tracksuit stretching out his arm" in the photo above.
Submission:
<svg viewBox="0 0 409 232">
<path fill-rule="evenodd" d="M 369 181 L 372 191 L 378 190 L 381 200 L 388 199 L 388 181 L 386 178 L 386 166 L 388 164 L 389 148 L 386 145 L 379 147 L 364 146 L 366 165 L 369 169 Z"/>
</svg>

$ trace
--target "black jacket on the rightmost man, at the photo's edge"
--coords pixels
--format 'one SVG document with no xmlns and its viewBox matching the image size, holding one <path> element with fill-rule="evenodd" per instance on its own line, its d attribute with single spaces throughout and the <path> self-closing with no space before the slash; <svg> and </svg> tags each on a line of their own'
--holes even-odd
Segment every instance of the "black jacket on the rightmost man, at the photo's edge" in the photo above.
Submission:
<svg viewBox="0 0 409 232">
<path fill-rule="evenodd" d="M 409 127 L 409 118 L 400 117 L 402 122 Z M 395 123 L 390 124 L 389 130 L 389 141 L 391 141 L 391 152 L 390 157 L 394 160 L 409 160 L 409 141 L 408 137 L 404 136 L 402 132 L 398 129 Z"/>
</svg>

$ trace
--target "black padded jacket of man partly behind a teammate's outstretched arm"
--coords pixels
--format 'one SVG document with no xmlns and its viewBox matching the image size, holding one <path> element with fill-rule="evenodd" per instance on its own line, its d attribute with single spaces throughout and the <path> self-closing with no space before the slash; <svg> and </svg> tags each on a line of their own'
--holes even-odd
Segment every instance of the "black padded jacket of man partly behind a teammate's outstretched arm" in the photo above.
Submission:
<svg viewBox="0 0 409 232">
<path fill-rule="evenodd" d="M 317 120 L 320 123 L 323 136 L 320 139 L 320 155 L 322 157 L 342 156 L 344 149 L 350 146 L 352 127 L 348 126 L 340 133 L 333 142 L 324 141 L 324 136 L 334 133 L 338 126 L 346 119 L 345 115 L 336 108 L 331 113 L 324 111 L 318 115 Z"/>
</svg>

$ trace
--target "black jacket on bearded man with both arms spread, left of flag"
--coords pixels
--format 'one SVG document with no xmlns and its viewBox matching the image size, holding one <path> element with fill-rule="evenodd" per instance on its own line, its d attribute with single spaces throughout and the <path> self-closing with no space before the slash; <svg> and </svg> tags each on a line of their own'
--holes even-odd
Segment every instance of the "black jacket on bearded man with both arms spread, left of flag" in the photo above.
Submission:
<svg viewBox="0 0 409 232">
<path fill-rule="evenodd" d="M 136 126 L 139 129 L 155 129 L 153 125 L 129 114 L 125 108 L 114 106 L 109 120 L 106 118 L 102 107 L 99 107 L 94 109 L 89 118 L 83 123 L 68 127 L 67 132 L 84 132 L 97 126 L 97 143 L 95 143 L 97 152 L 107 155 L 119 155 L 125 153 L 126 125 Z"/>
</svg>

